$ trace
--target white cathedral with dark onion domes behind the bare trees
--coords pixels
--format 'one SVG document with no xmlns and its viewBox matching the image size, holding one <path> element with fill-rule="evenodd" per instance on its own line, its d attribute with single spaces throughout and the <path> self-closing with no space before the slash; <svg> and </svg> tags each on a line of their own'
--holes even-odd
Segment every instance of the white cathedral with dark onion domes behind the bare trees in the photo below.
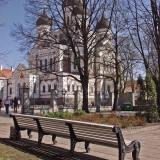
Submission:
<svg viewBox="0 0 160 160">
<path fill-rule="evenodd" d="M 72 3 L 74 4 L 72 4 Z M 74 14 L 71 9 L 74 9 Z M 65 18 L 68 25 L 72 25 L 75 33 L 78 32 L 74 26 L 74 15 L 81 16 L 83 14 L 81 3 L 79 0 L 64 2 Z M 51 90 L 57 90 L 57 104 L 58 105 L 73 105 L 74 92 L 79 91 L 82 98 L 81 83 L 75 80 L 79 79 L 79 72 L 77 68 L 77 61 L 74 58 L 72 50 L 68 49 L 66 40 L 62 30 L 52 30 L 53 22 L 47 15 L 44 7 L 43 13 L 35 22 L 36 27 L 36 41 L 33 48 L 28 53 L 28 66 L 19 64 L 14 70 L 12 77 L 4 81 L 3 98 L 7 96 L 9 99 L 17 97 L 21 99 L 20 88 L 27 86 L 29 88 L 29 96 L 32 104 L 50 105 Z M 102 14 L 101 19 L 97 23 L 96 37 L 101 37 L 106 33 L 106 28 L 109 28 L 109 22 Z M 101 42 L 101 47 L 112 46 L 110 29 L 107 31 L 106 37 Z M 53 40 L 46 37 L 52 37 L 61 43 L 52 43 Z M 62 43 L 64 42 L 64 43 Z M 78 50 L 80 55 L 83 55 L 83 50 Z M 98 50 L 99 61 L 103 61 L 104 57 L 112 57 L 111 52 Z M 89 62 L 94 61 L 91 57 Z M 81 63 L 81 62 L 79 62 Z M 90 77 L 94 75 L 94 63 L 89 65 Z M 108 66 L 108 71 L 113 72 L 113 68 Z M 100 67 L 99 72 L 107 72 L 103 66 Z M 107 74 L 107 73 L 106 73 Z M 95 86 L 96 79 L 89 79 L 89 103 L 95 101 L 95 91 L 101 93 L 101 98 L 105 96 L 105 92 L 113 92 L 113 83 L 105 78 L 99 78 L 98 85 Z M 95 88 L 97 87 L 97 88 Z"/>
</svg>

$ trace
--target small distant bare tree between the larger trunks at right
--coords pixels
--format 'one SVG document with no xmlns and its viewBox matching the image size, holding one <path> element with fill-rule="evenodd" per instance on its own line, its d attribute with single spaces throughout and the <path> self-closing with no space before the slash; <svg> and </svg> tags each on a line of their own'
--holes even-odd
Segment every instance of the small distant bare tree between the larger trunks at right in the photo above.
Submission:
<svg viewBox="0 0 160 160">
<path fill-rule="evenodd" d="M 134 92 L 135 79 L 140 73 L 139 68 L 142 68 L 142 59 L 139 58 L 136 48 L 134 47 L 130 37 L 127 37 L 119 47 L 121 66 L 123 75 L 121 77 L 120 92 L 124 93 L 127 83 L 131 85 L 132 92 Z"/>
</svg>

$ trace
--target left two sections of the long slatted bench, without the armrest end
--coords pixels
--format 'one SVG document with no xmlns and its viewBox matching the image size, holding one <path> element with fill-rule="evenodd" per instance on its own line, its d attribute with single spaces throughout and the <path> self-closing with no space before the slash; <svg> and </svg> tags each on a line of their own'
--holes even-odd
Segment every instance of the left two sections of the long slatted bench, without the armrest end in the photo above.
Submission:
<svg viewBox="0 0 160 160">
<path fill-rule="evenodd" d="M 31 131 L 38 133 L 38 147 L 40 147 L 44 135 L 51 135 L 53 144 L 56 144 L 56 136 L 70 139 L 68 126 L 64 119 L 49 118 L 35 115 L 11 113 L 15 126 L 15 138 L 18 139 L 21 130 L 27 130 L 29 138 Z"/>
</svg>

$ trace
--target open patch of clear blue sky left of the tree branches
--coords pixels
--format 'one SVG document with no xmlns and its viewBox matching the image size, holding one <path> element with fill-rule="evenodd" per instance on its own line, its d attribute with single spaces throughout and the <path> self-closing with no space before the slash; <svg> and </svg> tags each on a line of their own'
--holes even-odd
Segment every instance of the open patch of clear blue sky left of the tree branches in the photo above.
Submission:
<svg viewBox="0 0 160 160">
<path fill-rule="evenodd" d="M 8 4 L 0 7 L 0 54 L 7 53 L 5 57 L 0 55 L 0 64 L 3 68 L 14 69 L 19 63 L 26 63 L 25 53 L 18 51 L 18 43 L 10 36 L 13 23 L 24 24 L 25 12 L 23 2 L 25 0 L 9 0 Z"/>
</svg>

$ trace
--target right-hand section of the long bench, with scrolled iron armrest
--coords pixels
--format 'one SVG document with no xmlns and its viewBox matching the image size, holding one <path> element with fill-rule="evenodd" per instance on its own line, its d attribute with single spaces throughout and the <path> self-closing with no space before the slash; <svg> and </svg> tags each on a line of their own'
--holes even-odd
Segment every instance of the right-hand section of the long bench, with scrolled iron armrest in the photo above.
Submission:
<svg viewBox="0 0 160 160">
<path fill-rule="evenodd" d="M 124 160 L 125 154 L 130 152 L 132 152 L 134 160 L 139 160 L 140 143 L 136 140 L 124 140 L 122 132 L 117 126 L 72 120 L 67 121 L 66 125 L 70 131 L 71 155 L 73 155 L 76 143 L 84 141 L 87 152 L 90 151 L 89 143 L 93 143 L 118 148 L 119 160 Z"/>
</svg>

